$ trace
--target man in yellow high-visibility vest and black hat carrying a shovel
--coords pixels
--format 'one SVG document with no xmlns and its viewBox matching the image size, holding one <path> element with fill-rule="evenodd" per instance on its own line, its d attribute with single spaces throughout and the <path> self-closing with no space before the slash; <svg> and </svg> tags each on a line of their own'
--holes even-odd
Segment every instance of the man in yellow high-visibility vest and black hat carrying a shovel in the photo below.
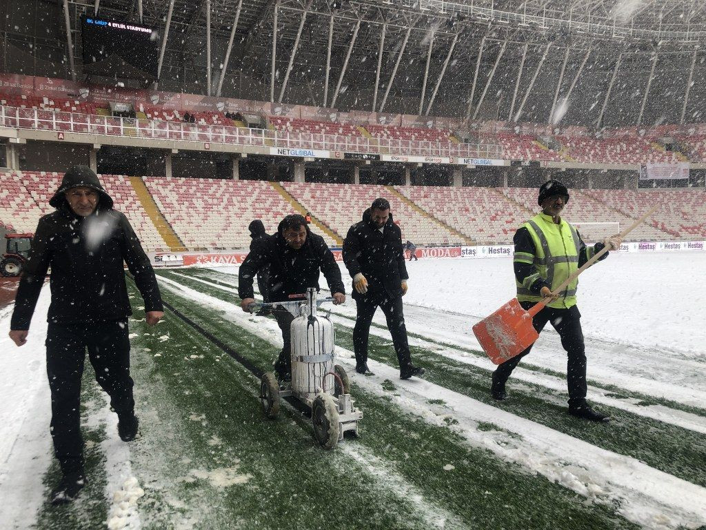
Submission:
<svg viewBox="0 0 706 530">
<path fill-rule="evenodd" d="M 561 182 L 545 182 L 539 188 L 538 203 L 542 206 L 542 213 L 515 232 L 513 241 L 517 300 L 528 310 L 544 298 L 551 297 L 551 301 L 534 316 L 532 324 L 540 332 L 547 322 L 551 322 L 561 337 L 561 346 L 568 353 L 568 412 L 577 418 L 605 422 L 610 420 L 609 416 L 594 411 L 586 402 L 586 355 L 581 314 L 576 306 L 578 279 L 561 293 L 551 293 L 603 247 L 620 248 L 621 238 L 614 235 L 602 243 L 596 243 L 594 247 L 587 247 L 578 231 L 560 216 L 568 200 L 568 189 Z M 599 261 L 607 255 L 604 254 Z M 520 359 L 530 350 L 532 346 L 505 361 L 493 372 L 491 395 L 494 399 L 507 399 L 505 382 Z"/>
</svg>

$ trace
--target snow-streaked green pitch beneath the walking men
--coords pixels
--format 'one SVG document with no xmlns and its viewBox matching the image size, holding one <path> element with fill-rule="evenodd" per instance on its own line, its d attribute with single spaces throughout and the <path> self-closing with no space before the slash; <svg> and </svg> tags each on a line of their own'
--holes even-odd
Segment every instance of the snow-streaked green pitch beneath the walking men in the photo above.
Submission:
<svg viewBox="0 0 706 530">
<path fill-rule="evenodd" d="M 83 428 L 89 480 L 98 485 L 68 515 L 45 503 L 57 477 L 44 370 L 48 287 L 23 348 L 7 337 L 9 310 L 0 312 L 0 526 L 551 526 L 542 517 L 556 528 L 706 524 L 706 254 L 612 253 L 581 276 L 588 399 L 611 413 L 607 425 L 566 415 L 566 353 L 551 326 L 513 373 L 510 400 L 489 399 L 493 365 L 471 327 L 513 298 L 511 259 L 407 267 L 405 320 L 429 377 L 398 379 L 381 312 L 371 328 L 376 375 L 352 373 L 355 305 L 330 307 L 337 362 L 366 414 L 363 437 L 334 452 L 316 447 L 293 409 L 265 420 L 256 379 L 172 312 L 148 329 L 131 289 L 141 437 L 119 441 L 114 414 L 87 377 Z M 165 300 L 267 369 L 279 329 L 241 312 L 237 267 L 159 271 L 159 279 Z M 342 483 L 347 507 L 332 493 Z"/>
</svg>

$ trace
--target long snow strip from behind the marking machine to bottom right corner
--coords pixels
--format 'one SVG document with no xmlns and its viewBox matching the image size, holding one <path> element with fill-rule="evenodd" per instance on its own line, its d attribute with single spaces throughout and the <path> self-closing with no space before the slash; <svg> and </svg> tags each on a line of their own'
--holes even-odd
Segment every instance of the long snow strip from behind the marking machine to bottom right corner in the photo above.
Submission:
<svg viewBox="0 0 706 530">
<path fill-rule="evenodd" d="M 251 317 L 239 314 L 241 310 L 235 304 L 167 278 L 159 279 L 179 288 L 192 300 L 226 312 L 232 321 L 265 340 L 271 340 L 279 332 L 276 322 L 269 319 L 254 322 Z M 337 358 L 352 367 L 352 352 L 339 347 L 336 351 L 340 354 Z M 381 384 L 384 379 L 397 379 L 397 368 L 374 360 L 369 360 L 369 364 L 377 375 L 366 378 L 352 373 L 355 381 L 366 390 L 389 396 Z M 443 399 L 459 422 L 455 428 L 472 445 L 490 449 L 501 459 L 520 464 L 528 471 L 540 473 L 590 499 L 600 502 L 618 500 L 618 513 L 630 521 L 655 530 L 676 529 L 680 525 L 697 528 L 706 523 L 705 488 L 653 469 L 632 457 L 596 447 L 436 384 L 420 379 L 396 380 L 395 384 L 409 396 L 399 398 L 405 410 L 438 424 L 443 420 L 433 413 L 427 401 Z M 481 421 L 498 425 L 520 438 L 502 432 L 493 436 L 479 431 L 477 424 Z"/>
</svg>

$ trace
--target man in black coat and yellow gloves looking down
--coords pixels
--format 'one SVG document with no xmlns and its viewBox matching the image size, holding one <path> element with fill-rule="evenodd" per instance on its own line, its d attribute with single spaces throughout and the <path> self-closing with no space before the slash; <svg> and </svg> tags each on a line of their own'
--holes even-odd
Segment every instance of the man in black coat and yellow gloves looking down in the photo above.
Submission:
<svg viewBox="0 0 706 530">
<path fill-rule="evenodd" d="M 407 293 L 407 267 L 402 249 L 402 232 L 393 223 L 390 203 L 375 199 L 352 225 L 343 242 L 343 261 L 353 278 L 353 299 L 357 319 L 353 329 L 356 372 L 373 375 L 368 368 L 368 336 L 378 305 L 385 313 L 393 337 L 400 379 L 424 375 L 424 368 L 414 366 L 409 354 L 402 296 Z"/>
</svg>

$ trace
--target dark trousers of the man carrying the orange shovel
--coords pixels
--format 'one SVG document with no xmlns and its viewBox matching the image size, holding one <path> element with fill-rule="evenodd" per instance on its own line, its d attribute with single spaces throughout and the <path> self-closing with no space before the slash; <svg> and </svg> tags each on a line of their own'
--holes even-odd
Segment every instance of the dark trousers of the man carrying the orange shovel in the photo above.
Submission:
<svg viewBox="0 0 706 530">
<path fill-rule="evenodd" d="M 528 310 L 534 303 L 520 302 L 520 305 L 525 310 Z M 556 329 L 561 338 L 561 346 L 568 354 L 566 383 L 569 391 L 569 406 L 572 408 L 582 406 L 586 402 L 586 350 L 581 329 L 581 313 L 576 306 L 570 307 L 568 310 L 544 307 L 532 319 L 532 325 L 538 333 L 544 329 L 547 322 L 550 322 Z M 499 365 L 495 371 L 498 381 L 507 381 L 517 363 L 520 363 L 520 359 L 530 353 L 531 350 L 532 346 L 520 353 L 520 355 Z"/>
</svg>

